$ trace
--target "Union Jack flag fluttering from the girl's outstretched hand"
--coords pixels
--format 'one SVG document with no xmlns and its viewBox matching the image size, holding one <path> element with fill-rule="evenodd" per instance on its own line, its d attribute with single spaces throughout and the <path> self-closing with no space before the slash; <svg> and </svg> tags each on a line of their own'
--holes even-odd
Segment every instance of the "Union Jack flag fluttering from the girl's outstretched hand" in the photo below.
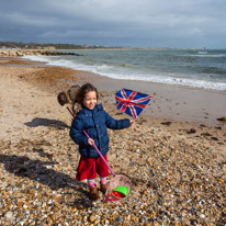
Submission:
<svg viewBox="0 0 226 226">
<path fill-rule="evenodd" d="M 134 118 L 137 118 L 152 95 L 122 89 L 115 93 L 116 108 Z"/>
</svg>

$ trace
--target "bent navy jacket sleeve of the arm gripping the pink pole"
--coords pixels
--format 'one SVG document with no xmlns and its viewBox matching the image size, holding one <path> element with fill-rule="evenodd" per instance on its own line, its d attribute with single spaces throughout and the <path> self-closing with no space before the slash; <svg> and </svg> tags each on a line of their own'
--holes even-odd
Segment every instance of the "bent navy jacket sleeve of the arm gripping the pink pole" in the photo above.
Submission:
<svg viewBox="0 0 226 226">
<path fill-rule="evenodd" d="M 83 123 L 80 118 L 75 117 L 72 120 L 69 134 L 77 145 L 88 146 L 88 137 L 83 133 Z"/>
</svg>

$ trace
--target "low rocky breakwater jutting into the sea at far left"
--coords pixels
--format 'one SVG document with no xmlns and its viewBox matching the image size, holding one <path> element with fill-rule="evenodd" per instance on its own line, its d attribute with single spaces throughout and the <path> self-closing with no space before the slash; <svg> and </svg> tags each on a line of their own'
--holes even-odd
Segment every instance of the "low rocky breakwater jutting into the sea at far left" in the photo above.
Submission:
<svg viewBox="0 0 226 226">
<path fill-rule="evenodd" d="M 81 56 L 76 53 L 67 53 L 67 52 L 56 52 L 56 50 L 46 50 L 46 49 L 0 49 L 0 56 L 4 57 L 16 57 L 16 56 L 26 56 L 26 55 L 45 55 L 45 56 L 59 56 L 59 55 L 75 55 Z"/>
</svg>

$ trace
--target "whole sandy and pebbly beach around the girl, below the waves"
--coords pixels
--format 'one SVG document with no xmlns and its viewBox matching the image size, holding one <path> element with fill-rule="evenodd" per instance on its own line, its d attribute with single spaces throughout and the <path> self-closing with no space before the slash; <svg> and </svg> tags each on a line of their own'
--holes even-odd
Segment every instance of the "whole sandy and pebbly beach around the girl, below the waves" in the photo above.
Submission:
<svg viewBox="0 0 226 226">
<path fill-rule="evenodd" d="M 101 192 L 91 202 L 86 181 L 75 179 L 80 156 L 57 94 L 94 83 L 105 111 L 125 118 L 114 93 L 126 81 L 14 56 L 0 58 L 0 225 L 226 224 L 225 92 L 210 95 L 221 104 L 203 110 L 206 91 L 184 89 L 193 99 L 180 102 L 169 95 L 178 88 L 167 93 L 170 88 L 150 83 L 157 94 L 144 114 L 128 129 L 109 131 L 109 165 L 133 183 L 128 199 L 109 203 Z M 136 86 L 147 91 L 147 84 L 129 82 Z"/>
</svg>

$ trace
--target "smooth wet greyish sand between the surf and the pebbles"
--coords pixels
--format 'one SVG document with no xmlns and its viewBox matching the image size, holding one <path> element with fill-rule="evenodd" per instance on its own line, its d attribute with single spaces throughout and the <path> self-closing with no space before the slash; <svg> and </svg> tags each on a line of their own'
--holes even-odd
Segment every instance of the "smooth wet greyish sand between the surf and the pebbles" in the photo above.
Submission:
<svg viewBox="0 0 226 226">
<path fill-rule="evenodd" d="M 166 121 L 204 124 L 211 127 L 221 126 L 226 131 L 226 124 L 217 121 L 226 114 L 226 91 L 113 80 L 105 77 L 98 79 L 94 83 L 99 89 L 113 91 L 127 88 L 148 94 L 156 92 L 155 98 L 142 113 L 143 115 Z"/>
</svg>

